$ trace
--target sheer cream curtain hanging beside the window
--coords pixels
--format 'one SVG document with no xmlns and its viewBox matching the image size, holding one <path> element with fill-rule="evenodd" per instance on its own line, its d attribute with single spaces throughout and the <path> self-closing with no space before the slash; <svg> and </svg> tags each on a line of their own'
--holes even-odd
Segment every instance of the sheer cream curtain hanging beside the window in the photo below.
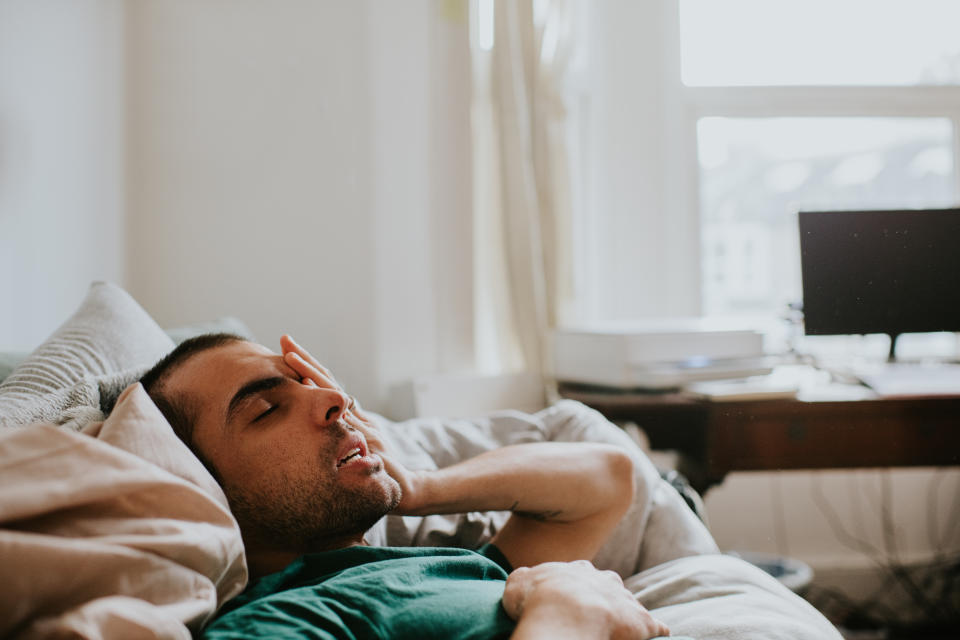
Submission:
<svg viewBox="0 0 960 640">
<path fill-rule="evenodd" d="M 550 333 L 572 287 L 571 2 L 497 2 L 493 26 L 490 50 L 475 48 L 479 342 L 495 352 L 479 359 L 549 380 Z"/>
</svg>

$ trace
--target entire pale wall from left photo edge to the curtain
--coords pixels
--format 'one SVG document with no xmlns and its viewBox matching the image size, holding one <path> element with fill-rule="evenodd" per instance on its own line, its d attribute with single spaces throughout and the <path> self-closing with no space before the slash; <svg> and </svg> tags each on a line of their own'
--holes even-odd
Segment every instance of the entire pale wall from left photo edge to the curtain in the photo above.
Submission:
<svg viewBox="0 0 960 640">
<path fill-rule="evenodd" d="M 380 410 L 472 365 L 466 0 L 0 12 L 0 348 L 108 279 L 289 331 Z"/>
</svg>

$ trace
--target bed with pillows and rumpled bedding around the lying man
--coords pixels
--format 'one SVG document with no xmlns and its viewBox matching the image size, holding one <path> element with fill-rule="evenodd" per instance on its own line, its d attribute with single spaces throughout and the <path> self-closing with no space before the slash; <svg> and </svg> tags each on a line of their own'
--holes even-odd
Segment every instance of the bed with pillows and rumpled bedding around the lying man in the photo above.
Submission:
<svg viewBox="0 0 960 640">
<path fill-rule="evenodd" d="M 217 330 L 249 336 L 233 319 L 164 330 L 123 289 L 98 282 L 32 353 L 0 354 L 0 636 L 190 638 L 243 590 L 243 546 L 222 491 L 132 384 L 176 342 Z M 584 405 L 375 419 L 411 468 L 519 442 L 622 446 L 636 462 L 637 497 L 595 564 L 623 576 L 675 635 L 840 638 L 780 582 L 719 553 L 633 441 Z M 367 537 L 476 548 L 505 519 L 388 516 Z"/>
</svg>

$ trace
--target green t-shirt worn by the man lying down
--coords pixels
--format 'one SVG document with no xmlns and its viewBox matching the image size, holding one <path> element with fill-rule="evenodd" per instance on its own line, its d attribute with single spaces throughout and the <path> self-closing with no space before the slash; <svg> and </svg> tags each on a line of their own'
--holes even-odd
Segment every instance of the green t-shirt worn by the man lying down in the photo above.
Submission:
<svg viewBox="0 0 960 640">
<path fill-rule="evenodd" d="M 227 638 L 507 638 L 499 549 L 349 547 L 253 582 L 204 630 Z"/>
</svg>

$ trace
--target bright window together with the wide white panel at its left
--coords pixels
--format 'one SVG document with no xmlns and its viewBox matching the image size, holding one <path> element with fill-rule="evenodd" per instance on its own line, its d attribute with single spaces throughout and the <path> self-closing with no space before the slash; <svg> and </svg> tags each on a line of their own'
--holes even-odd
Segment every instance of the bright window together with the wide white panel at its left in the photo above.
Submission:
<svg viewBox="0 0 960 640">
<path fill-rule="evenodd" d="M 960 202 L 960 2 L 590 10 L 584 317 L 778 317 L 797 210 Z"/>
</svg>

